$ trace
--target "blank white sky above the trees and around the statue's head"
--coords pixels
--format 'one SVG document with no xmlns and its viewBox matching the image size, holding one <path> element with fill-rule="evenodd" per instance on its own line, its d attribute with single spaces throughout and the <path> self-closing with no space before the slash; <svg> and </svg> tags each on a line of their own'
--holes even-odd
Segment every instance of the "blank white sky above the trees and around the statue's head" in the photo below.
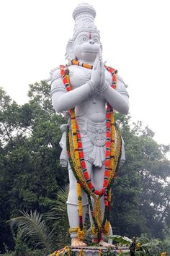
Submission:
<svg viewBox="0 0 170 256">
<path fill-rule="evenodd" d="M 129 85 L 133 121 L 170 143 L 170 1 L 86 1 L 97 11 L 103 59 Z M 30 83 L 66 64 L 79 0 L 0 0 L 0 86 L 17 103 L 27 102 Z"/>
</svg>

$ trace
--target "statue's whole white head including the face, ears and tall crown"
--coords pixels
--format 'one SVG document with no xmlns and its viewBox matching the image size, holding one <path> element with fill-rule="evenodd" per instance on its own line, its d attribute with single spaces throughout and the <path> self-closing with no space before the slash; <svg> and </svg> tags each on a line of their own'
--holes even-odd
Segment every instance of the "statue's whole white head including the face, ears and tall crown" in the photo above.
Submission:
<svg viewBox="0 0 170 256">
<path fill-rule="evenodd" d="M 94 62 L 99 51 L 102 51 L 99 30 L 94 25 L 95 9 L 90 4 L 79 4 L 73 10 L 75 26 L 73 38 L 68 41 L 66 59 L 78 59 Z"/>
</svg>

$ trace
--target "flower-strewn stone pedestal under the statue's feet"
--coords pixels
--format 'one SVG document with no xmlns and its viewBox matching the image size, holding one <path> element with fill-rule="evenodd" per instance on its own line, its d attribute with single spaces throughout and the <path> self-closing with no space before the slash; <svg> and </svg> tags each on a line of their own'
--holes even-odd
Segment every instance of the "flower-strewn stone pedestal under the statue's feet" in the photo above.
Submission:
<svg viewBox="0 0 170 256">
<path fill-rule="evenodd" d="M 100 256 L 106 252 L 112 253 L 112 255 L 120 255 L 120 252 L 129 252 L 128 247 L 68 247 L 71 252 L 74 252 L 76 256 L 86 255 L 86 256 Z M 68 249 L 65 250 L 68 252 Z M 60 252 L 60 255 L 63 255 L 63 252 Z"/>
</svg>

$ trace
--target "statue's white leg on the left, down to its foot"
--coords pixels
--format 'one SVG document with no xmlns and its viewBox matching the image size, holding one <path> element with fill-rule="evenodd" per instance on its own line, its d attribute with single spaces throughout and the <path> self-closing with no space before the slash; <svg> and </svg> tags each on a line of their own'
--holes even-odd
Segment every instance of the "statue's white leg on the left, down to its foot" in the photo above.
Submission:
<svg viewBox="0 0 170 256">
<path fill-rule="evenodd" d="M 86 168 L 91 176 L 91 164 L 86 163 Z M 78 209 L 78 199 L 77 199 L 77 191 L 76 191 L 76 178 L 73 175 L 73 171 L 71 167 L 68 167 L 69 174 L 69 194 L 67 200 L 67 211 L 68 211 L 68 220 L 70 224 L 70 233 L 71 233 L 71 244 L 72 246 L 85 246 L 82 241 L 79 241 L 77 228 L 79 227 L 79 209 Z M 82 197 L 82 206 L 83 206 L 83 223 L 86 217 L 86 210 L 88 205 L 87 195 L 83 189 L 81 189 L 81 197 Z"/>
</svg>

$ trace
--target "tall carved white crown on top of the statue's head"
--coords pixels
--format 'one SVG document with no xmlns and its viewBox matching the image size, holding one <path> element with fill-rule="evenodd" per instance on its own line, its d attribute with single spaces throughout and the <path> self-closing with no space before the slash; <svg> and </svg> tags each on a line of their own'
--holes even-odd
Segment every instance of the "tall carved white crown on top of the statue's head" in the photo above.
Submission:
<svg viewBox="0 0 170 256">
<path fill-rule="evenodd" d="M 94 25 L 94 18 L 96 17 L 96 11 L 90 4 L 79 4 L 73 10 L 73 19 L 75 20 L 75 26 L 73 30 L 73 38 L 81 31 L 91 31 L 99 33 L 97 27 Z"/>
</svg>

